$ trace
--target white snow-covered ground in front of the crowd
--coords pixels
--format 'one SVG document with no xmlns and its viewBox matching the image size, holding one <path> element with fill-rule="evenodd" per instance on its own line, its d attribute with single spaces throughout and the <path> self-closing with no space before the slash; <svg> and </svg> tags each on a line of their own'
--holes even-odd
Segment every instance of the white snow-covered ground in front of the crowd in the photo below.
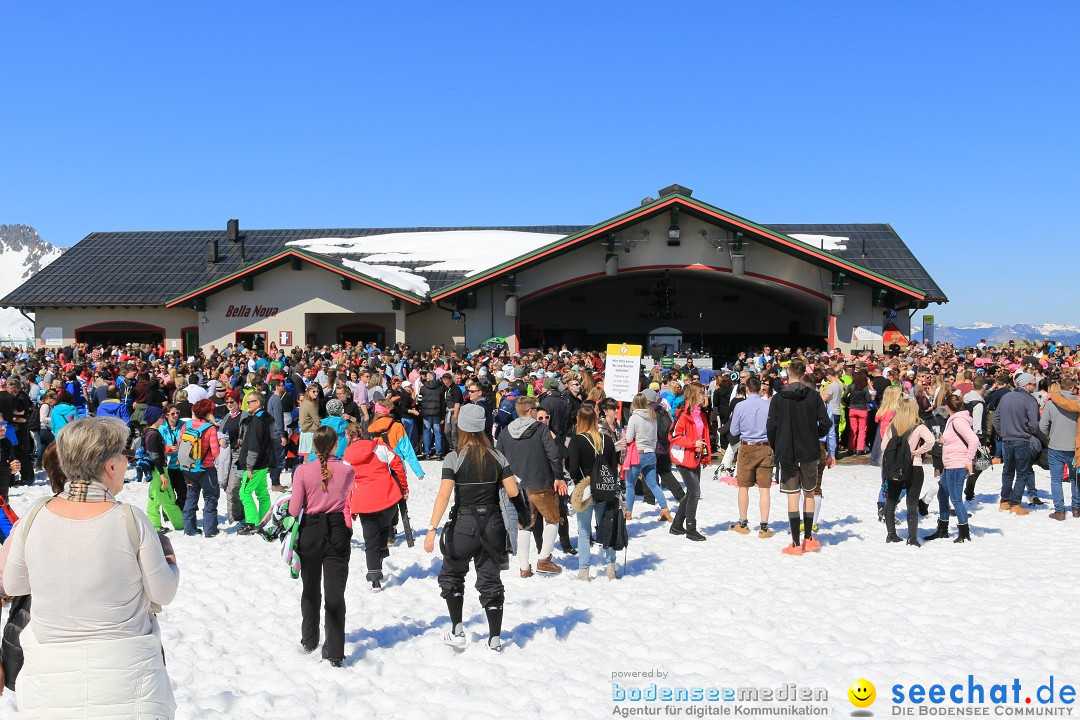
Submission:
<svg viewBox="0 0 1080 720">
<path fill-rule="evenodd" d="M 426 467 L 431 479 L 413 486 L 410 502 L 421 529 L 438 477 L 436 463 Z M 570 572 L 577 559 L 557 549 L 567 568 L 558 576 L 522 580 L 516 565 L 503 574 L 502 654 L 478 641 L 486 625 L 472 575 L 465 622 L 477 642 L 459 653 L 441 640 L 448 617 L 438 556 L 426 555 L 422 542 L 411 549 L 399 542 L 387 562 L 390 581 L 372 594 L 354 540 L 342 669 L 301 654 L 300 583 L 288 578 L 275 544 L 232 529 L 215 540 L 174 532 L 184 574 L 161 624 L 177 717 L 600 718 L 642 705 L 612 702 L 612 673 L 648 670 L 669 675 L 620 682 L 797 683 L 826 689 L 828 701 L 819 705 L 841 717 L 853 709 L 846 693 L 860 678 L 877 685 L 870 709 L 878 716 L 890 715 L 894 683 L 948 687 L 973 674 L 987 692 L 1018 678 L 1034 694 L 1051 675 L 1058 685 L 1076 685 L 1080 519 L 1051 521 L 1045 506 L 1024 518 L 999 513 L 999 467 L 980 480 L 969 544 L 886 545 L 877 470 L 867 466 L 826 473 L 822 552 L 801 558 L 780 553 L 788 535 L 775 488 L 772 515 L 781 522 L 770 540 L 726 530 L 738 516 L 737 491 L 711 479 L 700 511 L 707 542 L 669 534 L 656 510 L 638 504 L 624 578 L 579 582 Z M 1036 472 L 1049 500 L 1047 473 Z M 15 490 L 12 504 L 25 508 L 43 492 L 41 485 Z M 145 498 L 137 484 L 122 495 L 140 506 Z M 752 525 L 756 508 L 755 498 Z M 924 533 L 934 519 L 923 519 Z M 690 704 L 675 705 L 690 717 Z M 12 709 L 9 692 L 0 717 L 13 717 Z"/>
</svg>

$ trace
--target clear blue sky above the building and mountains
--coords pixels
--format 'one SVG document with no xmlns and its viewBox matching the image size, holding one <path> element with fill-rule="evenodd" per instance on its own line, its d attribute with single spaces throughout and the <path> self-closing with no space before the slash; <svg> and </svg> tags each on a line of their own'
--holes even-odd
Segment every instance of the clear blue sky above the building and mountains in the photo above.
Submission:
<svg viewBox="0 0 1080 720">
<path fill-rule="evenodd" d="M 8 2 L 0 223 L 891 222 L 961 325 L 1080 324 L 1080 4 Z"/>
</svg>

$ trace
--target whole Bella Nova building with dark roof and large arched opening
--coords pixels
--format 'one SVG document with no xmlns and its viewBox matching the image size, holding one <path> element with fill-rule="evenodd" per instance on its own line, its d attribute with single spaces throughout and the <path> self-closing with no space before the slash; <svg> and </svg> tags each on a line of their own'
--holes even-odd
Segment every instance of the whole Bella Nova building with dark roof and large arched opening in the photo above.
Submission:
<svg viewBox="0 0 1080 720">
<path fill-rule="evenodd" d="M 759 225 L 672 186 L 594 226 L 92 233 L 0 304 L 46 345 L 724 353 L 880 349 L 946 301 L 888 225 Z"/>
</svg>

